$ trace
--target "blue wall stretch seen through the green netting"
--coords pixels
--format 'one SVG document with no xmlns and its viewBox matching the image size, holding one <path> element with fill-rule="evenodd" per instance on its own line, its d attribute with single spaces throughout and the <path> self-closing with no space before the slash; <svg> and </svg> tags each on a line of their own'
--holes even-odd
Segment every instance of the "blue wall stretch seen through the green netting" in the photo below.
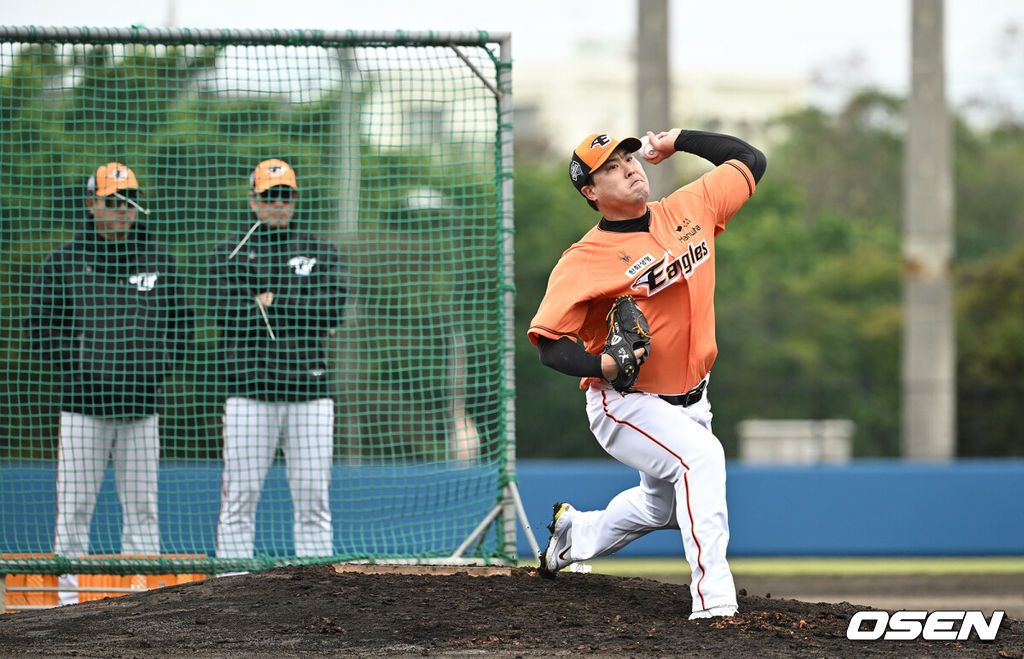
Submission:
<svg viewBox="0 0 1024 659">
<path fill-rule="evenodd" d="M 335 465 L 331 486 L 334 548 L 346 557 L 445 557 L 495 507 L 497 465 Z M 165 554 L 214 556 L 220 510 L 220 460 L 164 459 L 160 465 L 160 535 Z M 0 554 L 48 553 L 56 520 L 56 465 L 0 460 Z M 439 522 L 439 520 L 441 522 Z M 294 555 L 292 502 L 276 462 L 256 514 L 257 554 Z M 121 551 L 121 508 L 108 466 L 90 528 L 93 554 Z M 492 530 L 481 555 L 498 553 Z"/>
</svg>

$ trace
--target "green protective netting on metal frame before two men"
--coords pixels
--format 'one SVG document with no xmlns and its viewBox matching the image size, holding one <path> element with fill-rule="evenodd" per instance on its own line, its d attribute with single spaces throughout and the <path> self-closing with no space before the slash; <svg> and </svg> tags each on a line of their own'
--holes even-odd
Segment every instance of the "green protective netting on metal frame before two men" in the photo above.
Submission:
<svg viewBox="0 0 1024 659">
<path fill-rule="evenodd" d="M 0 571 L 514 560 L 501 44 L 0 35 Z"/>
</svg>

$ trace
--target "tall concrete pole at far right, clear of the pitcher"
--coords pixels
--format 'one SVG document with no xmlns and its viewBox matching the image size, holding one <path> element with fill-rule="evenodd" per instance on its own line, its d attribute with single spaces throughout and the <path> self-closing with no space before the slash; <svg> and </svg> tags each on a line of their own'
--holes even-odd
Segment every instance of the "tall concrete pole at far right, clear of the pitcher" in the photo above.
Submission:
<svg viewBox="0 0 1024 659">
<path fill-rule="evenodd" d="M 902 454 L 956 452 L 952 305 L 952 126 L 945 98 L 942 0 L 913 0 L 903 158 Z"/>
</svg>

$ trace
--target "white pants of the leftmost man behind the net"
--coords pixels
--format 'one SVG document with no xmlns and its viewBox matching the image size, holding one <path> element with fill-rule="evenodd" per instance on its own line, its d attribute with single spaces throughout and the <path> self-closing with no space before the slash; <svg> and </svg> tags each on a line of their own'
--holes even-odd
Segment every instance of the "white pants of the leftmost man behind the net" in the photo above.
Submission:
<svg viewBox="0 0 1024 659">
<path fill-rule="evenodd" d="M 60 412 L 57 452 L 57 520 L 53 553 L 65 557 L 89 554 L 89 526 L 108 460 L 121 500 L 121 553 L 160 554 L 157 480 L 160 422 L 154 414 L 137 420 L 101 419 Z M 62 587 L 77 587 L 77 574 L 62 574 Z M 60 591 L 60 604 L 78 603 L 78 592 Z"/>
</svg>

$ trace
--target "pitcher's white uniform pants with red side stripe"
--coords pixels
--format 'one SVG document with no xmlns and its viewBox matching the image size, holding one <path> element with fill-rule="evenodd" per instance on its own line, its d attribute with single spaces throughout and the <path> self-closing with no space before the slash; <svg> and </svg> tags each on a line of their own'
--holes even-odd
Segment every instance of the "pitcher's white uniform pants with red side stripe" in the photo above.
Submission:
<svg viewBox="0 0 1024 659">
<path fill-rule="evenodd" d="M 725 556 L 725 451 L 711 432 L 707 388 L 698 402 L 682 407 L 651 394 L 623 395 L 592 386 L 587 414 L 597 441 L 639 471 L 640 484 L 617 494 L 603 511 L 573 519 L 570 558 L 606 556 L 650 531 L 679 528 L 692 574 L 693 610 L 735 606 Z"/>
</svg>

